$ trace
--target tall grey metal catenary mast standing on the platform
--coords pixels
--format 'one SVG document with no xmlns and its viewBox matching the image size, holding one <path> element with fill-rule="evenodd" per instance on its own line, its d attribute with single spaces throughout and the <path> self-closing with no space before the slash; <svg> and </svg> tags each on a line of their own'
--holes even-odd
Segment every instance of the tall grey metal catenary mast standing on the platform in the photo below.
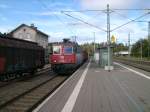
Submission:
<svg viewBox="0 0 150 112">
<path fill-rule="evenodd" d="M 107 4 L 107 44 L 108 44 L 108 71 L 110 71 L 110 9 Z"/>
</svg>

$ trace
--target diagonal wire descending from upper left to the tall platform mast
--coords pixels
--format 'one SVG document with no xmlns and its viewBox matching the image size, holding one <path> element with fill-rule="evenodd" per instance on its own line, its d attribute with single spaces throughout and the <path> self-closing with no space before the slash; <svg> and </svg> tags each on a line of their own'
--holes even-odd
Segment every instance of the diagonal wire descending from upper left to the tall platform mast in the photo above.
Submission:
<svg viewBox="0 0 150 112">
<path fill-rule="evenodd" d="M 83 20 L 81 20 L 81 19 L 79 19 L 79 18 L 77 18 L 77 17 L 74 17 L 74 16 L 70 15 L 70 14 L 66 14 L 64 11 L 61 11 L 61 13 L 65 14 L 66 16 L 69 16 L 69 17 L 71 17 L 71 18 L 73 18 L 73 19 L 76 19 L 76 20 L 78 20 L 78 21 L 80 21 L 80 22 L 82 22 L 82 23 L 84 23 L 84 24 L 87 24 L 87 25 L 89 25 L 89 26 L 91 26 L 91 27 L 94 27 L 94 28 L 96 28 L 96 29 L 99 29 L 99 30 L 102 30 L 102 31 L 104 31 L 104 32 L 107 32 L 107 30 L 105 30 L 105 29 L 102 29 L 102 28 L 100 28 L 100 27 L 98 27 L 98 26 L 96 26 L 96 25 L 93 25 L 93 24 L 91 24 L 91 23 L 88 23 L 88 22 L 86 22 L 86 21 L 83 21 Z"/>
</svg>

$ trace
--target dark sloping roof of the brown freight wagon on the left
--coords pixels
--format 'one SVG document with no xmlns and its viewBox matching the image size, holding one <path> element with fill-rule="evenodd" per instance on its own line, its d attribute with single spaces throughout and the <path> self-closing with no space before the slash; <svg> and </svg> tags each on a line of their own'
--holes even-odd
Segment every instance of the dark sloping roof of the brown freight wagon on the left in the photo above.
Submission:
<svg viewBox="0 0 150 112">
<path fill-rule="evenodd" d="M 42 47 L 38 46 L 38 44 L 35 42 L 11 38 L 4 35 L 0 35 L 0 46 L 25 48 L 25 49 L 42 49 Z"/>
</svg>

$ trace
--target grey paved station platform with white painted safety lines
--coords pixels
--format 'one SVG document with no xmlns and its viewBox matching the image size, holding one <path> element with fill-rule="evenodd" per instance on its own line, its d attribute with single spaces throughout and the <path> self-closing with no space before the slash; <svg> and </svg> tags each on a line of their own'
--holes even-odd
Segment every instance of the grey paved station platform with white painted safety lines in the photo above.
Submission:
<svg viewBox="0 0 150 112">
<path fill-rule="evenodd" d="M 85 63 L 33 112 L 150 112 L 150 73 Z"/>
</svg>

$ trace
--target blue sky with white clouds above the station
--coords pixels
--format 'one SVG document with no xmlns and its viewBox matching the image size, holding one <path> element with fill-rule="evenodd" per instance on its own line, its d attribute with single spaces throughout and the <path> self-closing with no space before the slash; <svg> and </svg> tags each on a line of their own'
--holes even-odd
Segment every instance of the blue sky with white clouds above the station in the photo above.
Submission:
<svg viewBox="0 0 150 112">
<path fill-rule="evenodd" d="M 106 42 L 107 4 L 111 10 L 111 30 L 150 12 L 150 10 L 116 10 L 148 9 L 149 0 L 0 0 L 0 32 L 10 32 L 24 23 L 34 24 L 48 34 L 49 42 L 61 41 L 63 38 L 75 40 L 76 36 L 76 41 L 83 44 L 93 42 L 94 33 L 97 43 Z M 117 43 L 124 44 L 128 43 L 129 33 L 131 43 L 140 38 L 147 38 L 147 21 L 150 21 L 150 14 L 137 21 L 145 22 L 131 22 L 112 31 L 111 36 L 116 37 Z"/>
</svg>

